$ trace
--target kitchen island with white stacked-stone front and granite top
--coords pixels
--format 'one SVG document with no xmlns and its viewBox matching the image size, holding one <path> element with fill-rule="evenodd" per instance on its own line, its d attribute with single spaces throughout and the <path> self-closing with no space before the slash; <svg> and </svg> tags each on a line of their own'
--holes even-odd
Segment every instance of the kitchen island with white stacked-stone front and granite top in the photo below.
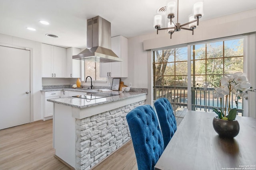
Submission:
<svg viewBox="0 0 256 170">
<path fill-rule="evenodd" d="M 118 92 L 116 92 L 118 93 Z M 147 93 L 126 92 L 94 100 L 56 98 L 53 147 L 55 156 L 68 166 L 88 170 L 131 139 L 127 113 L 144 105 Z"/>
</svg>

